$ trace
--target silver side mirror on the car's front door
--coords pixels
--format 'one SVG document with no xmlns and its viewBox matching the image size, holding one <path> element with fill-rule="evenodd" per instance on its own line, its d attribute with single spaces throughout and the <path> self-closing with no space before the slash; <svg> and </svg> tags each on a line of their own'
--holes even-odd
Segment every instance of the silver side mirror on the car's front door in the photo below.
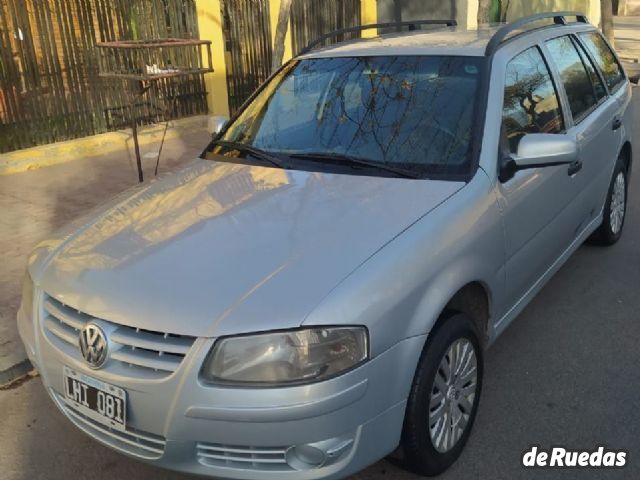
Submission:
<svg viewBox="0 0 640 480">
<path fill-rule="evenodd" d="M 520 140 L 517 155 L 504 160 L 500 181 L 506 182 L 520 170 L 570 165 L 577 159 L 578 145 L 566 135 L 530 133 Z"/>
</svg>

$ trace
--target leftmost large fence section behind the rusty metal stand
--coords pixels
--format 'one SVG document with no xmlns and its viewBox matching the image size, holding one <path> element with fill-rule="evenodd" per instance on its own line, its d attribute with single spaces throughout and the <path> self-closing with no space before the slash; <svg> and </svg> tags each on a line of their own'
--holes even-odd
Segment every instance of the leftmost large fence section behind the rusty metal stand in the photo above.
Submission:
<svg viewBox="0 0 640 480">
<path fill-rule="evenodd" d="M 0 152 L 127 126 L 130 85 L 98 76 L 95 44 L 198 38 L 195 12 L 194 0 L 2 0 Z M 159 81 L 154 98 L 137 105 L 144 123 L 207 110 L 202 75 Z"/>
</svg>

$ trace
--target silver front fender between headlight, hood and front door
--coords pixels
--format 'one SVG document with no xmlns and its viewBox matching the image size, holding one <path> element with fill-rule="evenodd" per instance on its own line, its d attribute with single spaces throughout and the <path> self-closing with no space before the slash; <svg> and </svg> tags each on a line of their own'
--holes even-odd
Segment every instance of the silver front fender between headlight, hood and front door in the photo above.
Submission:
<svg viewBox="0 0 640 480">
<path fill-rule="evenodd" d="M 304 321 L 369 329 L 374 357 L 427 334 L 449 300 L 478 281 L 495 317 L 503 303 L 504 235 L 484 171 L 343 280 Z M 490 322 L 491 323 L 491 322 Z M 487 332 L 492 335 L 492 330 Z"/>
</svg>

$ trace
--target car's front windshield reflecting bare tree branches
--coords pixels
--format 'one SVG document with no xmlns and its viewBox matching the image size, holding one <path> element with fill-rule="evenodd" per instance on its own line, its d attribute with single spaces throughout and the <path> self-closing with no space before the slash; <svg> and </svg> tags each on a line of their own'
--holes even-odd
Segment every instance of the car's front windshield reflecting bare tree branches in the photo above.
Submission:
<svg viewBox="0 0 640 480">
<path fill-rule="evenodd" d="M 208 151 L 233 143 L 289 165 L 348 158 L 427 175 L 465 173 L 481 68 L 480 58 L 463 56 L 292 61 Z"/>
</svg>

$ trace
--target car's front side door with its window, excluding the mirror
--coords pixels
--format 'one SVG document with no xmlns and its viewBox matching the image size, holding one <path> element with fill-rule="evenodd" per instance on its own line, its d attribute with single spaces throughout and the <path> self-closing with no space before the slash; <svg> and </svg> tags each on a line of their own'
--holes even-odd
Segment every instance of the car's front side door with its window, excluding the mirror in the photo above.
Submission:
<svg viewBox="0 0 640 480">
<path fill-rule="evenodd" d="M 557 85 L 534 46 L 507 64 L 501 157 L 517 154 L 522 137 L 566 135 Z M 568 167 L 521 170 L 498 184 L 506 250 L 506 298 L 514 304 L 531 289 L 575 238 L 579 213 L 575 176 Z"/>
</svg>

